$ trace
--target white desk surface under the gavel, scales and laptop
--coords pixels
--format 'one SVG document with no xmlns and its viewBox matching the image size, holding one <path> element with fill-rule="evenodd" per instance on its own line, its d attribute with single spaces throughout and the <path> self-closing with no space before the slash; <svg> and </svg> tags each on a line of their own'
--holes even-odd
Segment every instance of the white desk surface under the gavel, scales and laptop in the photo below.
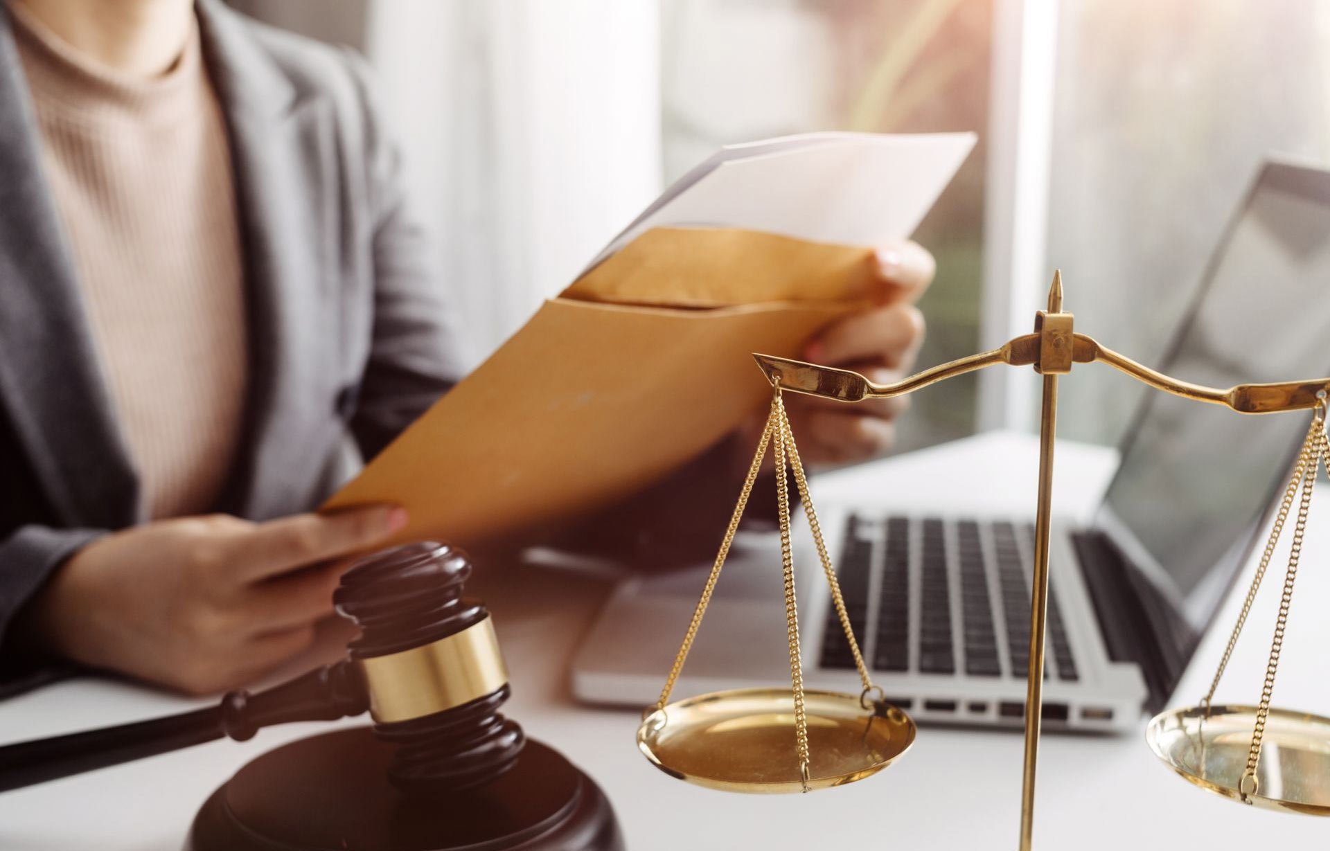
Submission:
<svg viewBox="0 0 1330 851">
<path fill-rule="evenodd" d="M 959 483 L 972 483 L 967 500 L 1033 507 L 1036 449 L 1035 441 L 1023 436 L 984 435 L 825 476 L 814 483 L 814 496 L 870 495 L 890 487 L 896 492 L 914 489 L 931 500 L 955 493 Z M 1107 481 L 1112 453 L 1061 444 L 1057 467 L 1055 503 L 1064 513 L 1083 515 Z M 1330 679 L 1323 668 L 1330 622 L 1319 614 L 1330 602 L 1330 511 L 1325 501 L 1321 508 L 1313 512 L 1303 550 L 1275 703 L 1330 714 Z M 1249 577 L 1250 572 L 1244 574 L 1242 585 Z M 1258 697 L 1281 584 L 1282 565 L 1267 577 L 1221 698 L 1254 702 Z M 600 782 L 634 851 L 821 850 L 833 843 L 970 851 L 1016 843 L 1019 734 L 924 727 L 896 766 L 845 789 L 769 798 L 706 791 L 666 778 L 638 755 L 633 745 L 637 713 L 587 709 L 568 697 L 565 661 L 604 597 L 602 582 L 521 569 L 473 582 L 473 588 L 495 612 L 512 669 L 515 697 L 508 714 Z M 1238 602 L 1241 596 L 1230 597 L 1218 630 L 1202 644 L 1176 702 L 1196 702 L 1208 686 Z M 66 682 L 0 703 L 0 741 L 197 705 L 128 685 Z M 1142 718 L 1141 730 L 1144 726 Z M 0 795 L 0 848 L 178 848 L 198 804 L 235 769 L 263 750 L 322 729 L 327 727 L 263 730 L 246 743 L 214 742 Z M 1193 789 L 1154 759 L 1140 734 L 1045 735 L 1039 778 L 1039 848 L 1311 848 L 1326 847 L 1330 838 L 1325 820 L 1253 810 Z"/>
</svg>

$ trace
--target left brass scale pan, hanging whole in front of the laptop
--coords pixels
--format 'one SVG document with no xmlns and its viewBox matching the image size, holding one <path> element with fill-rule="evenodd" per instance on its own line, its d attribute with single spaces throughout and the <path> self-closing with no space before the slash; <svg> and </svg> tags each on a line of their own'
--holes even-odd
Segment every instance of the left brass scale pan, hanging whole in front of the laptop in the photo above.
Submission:
<svg viewBox="0 0 1330 851">
<path fill-rule="evenodd" d="M 835 691 L 805 691 L 809 790 L 843 786 L 886 769 L 914 742 L 895 706 Z M 716 691 L 657 709 L 637 729 L 652 763 L 681 781 L 734 792 L 798 792 L 794 695 L 789 689 Z"/>
</svg>

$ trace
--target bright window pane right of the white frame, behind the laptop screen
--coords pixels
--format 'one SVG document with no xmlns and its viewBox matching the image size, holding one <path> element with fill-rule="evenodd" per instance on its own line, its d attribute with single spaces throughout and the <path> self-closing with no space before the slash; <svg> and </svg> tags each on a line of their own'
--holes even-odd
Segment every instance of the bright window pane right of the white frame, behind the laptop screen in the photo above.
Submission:
<svg viewBox="0 0 1330 851">
<path fill-rule="evenodd" d="M 1330 7 L 1077 0 L 1059 15 L 1049 267 L 1079 330 L 1154 364 L 1262 158 L 1330 154 Z M 1077 370 L 1059 435 L 1117 441 L 1141 392 Z"/>
</svg>

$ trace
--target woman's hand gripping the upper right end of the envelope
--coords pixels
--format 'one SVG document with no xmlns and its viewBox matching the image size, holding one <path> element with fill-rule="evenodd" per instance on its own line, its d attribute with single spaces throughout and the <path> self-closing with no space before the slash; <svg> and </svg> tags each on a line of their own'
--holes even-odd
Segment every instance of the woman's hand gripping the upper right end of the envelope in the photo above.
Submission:
<svg viewBox="0 0 1330 851">
<path fill-rule="evenodd" d="M 871 382 L 900 380 L 923 343 L 923 314 L 915 302 L 928 289 L 935 269 L 932 254 L 915 242 L 879 249 L 874 306 L 825 328 L 805 347 L 803 359 L 854 370 Z M 895 419 L 910 400 L 898 396 L 846 404 L 786 394 L 785 406 L 806 464 L 849 464 L 891 449 Z"/>
</svg>

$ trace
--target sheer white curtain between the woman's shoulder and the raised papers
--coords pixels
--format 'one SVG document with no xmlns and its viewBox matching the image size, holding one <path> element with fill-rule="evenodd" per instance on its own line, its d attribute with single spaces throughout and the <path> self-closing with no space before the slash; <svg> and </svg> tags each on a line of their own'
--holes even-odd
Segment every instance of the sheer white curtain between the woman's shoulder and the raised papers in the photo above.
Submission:
<svg viewBox="0 0 1330 851">
<path fill-rule="evenodd" d="M 661 187 L 656 0 L 375 0 L 364 49 L 484 358 Z"/>
</svg>

